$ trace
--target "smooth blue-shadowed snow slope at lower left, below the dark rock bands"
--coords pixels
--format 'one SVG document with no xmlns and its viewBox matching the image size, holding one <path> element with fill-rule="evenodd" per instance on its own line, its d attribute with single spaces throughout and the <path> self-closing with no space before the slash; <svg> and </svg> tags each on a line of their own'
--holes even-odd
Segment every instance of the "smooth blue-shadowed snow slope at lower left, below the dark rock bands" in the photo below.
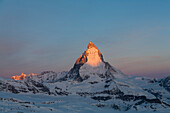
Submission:
<svg viewBox="0 0 170 113">
<path fill-rule="evenodd" d="M 43 94 L 12 94 L 0 92 L 0 113 L 122 113 L 112 108 L 102 106 L 102 102 L 95 102 L 80 96 L 48 96 Z M 135 110 L 126 113 L 136 113 Z M 143 111 L 138 111 L 138 113 Z M 145 113 L 151 113 L 148 109 Z M 168 113 L 163 109 L 154 113 Z"/>
</svg>

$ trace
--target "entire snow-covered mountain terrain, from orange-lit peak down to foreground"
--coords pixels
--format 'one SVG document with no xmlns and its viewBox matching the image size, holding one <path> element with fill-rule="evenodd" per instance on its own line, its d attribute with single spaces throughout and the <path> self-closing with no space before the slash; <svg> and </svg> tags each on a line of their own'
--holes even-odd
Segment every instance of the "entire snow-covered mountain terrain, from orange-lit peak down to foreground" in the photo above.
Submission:
<svg viewBox="0 0 170 113">
<path fill-rule="evenodd" d="M 99 49 L 90 42 L 70 71 L 46 71 L 25 76 L 23 80 L 0 79 L 0 94 L 0 112 L 167 112 L 170 76 L 163 79 L 126 76 L 105 62 Z"/>
</svg>

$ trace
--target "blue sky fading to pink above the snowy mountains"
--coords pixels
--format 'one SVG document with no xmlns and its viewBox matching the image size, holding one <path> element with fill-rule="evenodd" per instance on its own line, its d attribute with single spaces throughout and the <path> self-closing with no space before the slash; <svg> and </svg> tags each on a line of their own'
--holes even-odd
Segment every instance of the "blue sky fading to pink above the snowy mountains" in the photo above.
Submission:
<svg viewBox="0 0 170 113">
<path fill-rule="evenodd" d="M 170 75 L 170 1 L 0 0 L 0 76 L 69 70 L 90 41 L 126 74 Z"/>
</svg>

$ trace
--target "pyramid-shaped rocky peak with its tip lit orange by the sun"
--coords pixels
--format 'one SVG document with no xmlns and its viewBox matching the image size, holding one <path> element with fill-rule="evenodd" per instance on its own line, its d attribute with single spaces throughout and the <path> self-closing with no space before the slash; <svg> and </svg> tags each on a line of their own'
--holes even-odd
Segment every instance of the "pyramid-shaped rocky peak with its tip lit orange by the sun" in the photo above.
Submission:
<svg viewBox="0 0 170 113">
<path fill-rule="evenodd" d="M 99 49 L 90 42 L 88 48 L 77 59 L 74 67 L 69 71 L 66 79 L 79 82 L 86 80 L 89 76 L 97 74 L 102 78 L 120 78 L 123 74 L 105 62 Z"/>
</svg>

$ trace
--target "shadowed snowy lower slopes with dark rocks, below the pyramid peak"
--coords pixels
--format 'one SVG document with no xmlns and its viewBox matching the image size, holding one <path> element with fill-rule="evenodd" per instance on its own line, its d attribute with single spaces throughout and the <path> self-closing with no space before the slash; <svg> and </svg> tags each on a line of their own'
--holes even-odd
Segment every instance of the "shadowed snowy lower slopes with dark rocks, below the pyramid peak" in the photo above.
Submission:
<svg viewBox="0 0 170 113">
<path fill-rule="evenodd" d="M 108 79 L 94 74 L 82 82 L 66 80 L 40 83 L 30 78 L 24 81 L 0 80 L 0 110 L 167 113 L 170 110 L 170 92 L 161 85 L 166 84 L 162 83 L 165 79 Z"/>
</svg>

